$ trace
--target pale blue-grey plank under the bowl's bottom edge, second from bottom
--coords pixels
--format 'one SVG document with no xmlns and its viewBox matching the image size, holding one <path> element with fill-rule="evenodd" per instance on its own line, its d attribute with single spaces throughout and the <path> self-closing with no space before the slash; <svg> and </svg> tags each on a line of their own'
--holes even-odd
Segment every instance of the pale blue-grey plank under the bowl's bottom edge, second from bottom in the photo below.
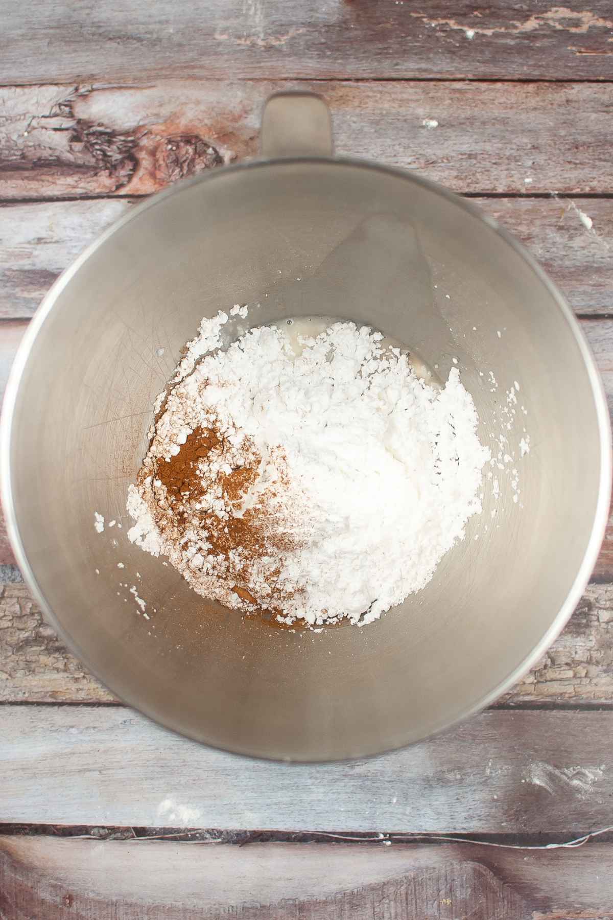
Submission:
<svg viewBox="0 0 613 920">
<path fill-rule="evenodd" d="M 573 834 L 607 823 L 613 712 L 490 709 L 403 751 L 243 760 L 124 707 L 0 707 L 0 820 Z"/>
</svg>

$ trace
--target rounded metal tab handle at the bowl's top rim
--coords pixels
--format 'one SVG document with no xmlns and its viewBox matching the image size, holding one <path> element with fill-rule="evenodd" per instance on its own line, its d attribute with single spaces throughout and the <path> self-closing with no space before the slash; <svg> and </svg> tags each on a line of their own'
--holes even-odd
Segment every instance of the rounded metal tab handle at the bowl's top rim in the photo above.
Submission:
<svg viewBox="0 0 613 920">
<path fill-rule="evenodd" d="M 268 98 L 262 113 L 260 148 L 267 159 L 331 156 L 332 122 L 324 99 L 300 90 Z"/>
</svg>

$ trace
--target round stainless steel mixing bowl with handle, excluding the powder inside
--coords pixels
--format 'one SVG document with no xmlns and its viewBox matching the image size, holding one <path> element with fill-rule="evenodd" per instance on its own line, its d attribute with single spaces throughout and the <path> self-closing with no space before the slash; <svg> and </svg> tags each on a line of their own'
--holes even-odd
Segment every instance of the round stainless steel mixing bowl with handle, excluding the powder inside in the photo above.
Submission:
<svg viewBox="0 0 613 920">
<path fill-rule="evenodd" d="M 53 286 L 7 388 L 3 499 L 43 610 L 114 693 L 228 751 L 324 761 L 441 730 L 539 658 L 596 559 L 609 427 L 569 307 L 492 219 L 424 178 L 332 158 L 315 98 L 273 99 L 264 127 L 263 160 L 134 208 Z M 456 358 L 494 452 L 505 391 L 520 386 L 528 415 L 518 406 L 506 432 L 520 500 L 497 471 L 500 498 L 486 482 L 482 516 L 426 590 L 368 627 L 299 635 L 244 619 L 126 538 L 153 399 L 201 316 L 238 303 L 253 324 L 371 324 L 442 378 Z M 95 511 L 122 529 L 97 534 Z M 150 620 L 119 582 L 137 585 Z"/>
</svg>

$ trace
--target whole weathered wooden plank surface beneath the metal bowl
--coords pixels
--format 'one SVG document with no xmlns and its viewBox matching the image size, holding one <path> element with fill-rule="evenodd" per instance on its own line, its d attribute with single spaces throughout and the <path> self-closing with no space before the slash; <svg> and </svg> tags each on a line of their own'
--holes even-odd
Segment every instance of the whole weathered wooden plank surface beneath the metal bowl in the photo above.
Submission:
<svg viewBox="0 0 613 920">
<path fill-rule="evenodd" d="M 339 153 L 423 171 L 528 244 L 613 406 L 613 6 L 565 2 L 0 0 L 0 385 L 90 240 L 253 155 L 267 94 L 302 86 Z M 4 531 L 0 576 L 2 920 L 613 917 L 613 834 L 543 848 L 613 825 L 611 522 L 568 627 L 494 707 L 330 766 L 154 726 L 63 649 Z"/>
</svg>

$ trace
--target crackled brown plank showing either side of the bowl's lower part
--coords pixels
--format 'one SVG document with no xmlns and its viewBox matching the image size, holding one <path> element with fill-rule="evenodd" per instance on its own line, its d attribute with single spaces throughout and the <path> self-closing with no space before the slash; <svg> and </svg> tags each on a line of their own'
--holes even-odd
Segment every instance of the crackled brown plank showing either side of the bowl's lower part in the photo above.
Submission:
<svg viewBox="0 0 613 920">
<path fill-rule="evenodd" d="M 0 585 L 0 703 L 114 702 L 44 622 L 25 584 Z M 590 584 L 562 635 L 502 704 L 613 702 L 613 586 Z"/>
</svg>

